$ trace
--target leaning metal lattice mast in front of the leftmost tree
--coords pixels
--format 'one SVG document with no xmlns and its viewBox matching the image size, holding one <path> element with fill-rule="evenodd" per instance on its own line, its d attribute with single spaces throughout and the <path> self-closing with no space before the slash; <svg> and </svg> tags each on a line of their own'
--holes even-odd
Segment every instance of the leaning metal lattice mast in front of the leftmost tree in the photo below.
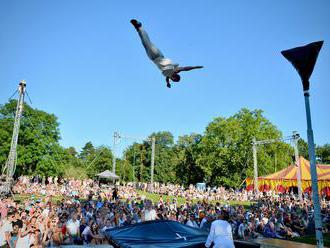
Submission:
<svg viewBox="0 0 330 248">
<path fill-rule="evenodd" d="M 3 167 L 2 174 L 6 174 L 6 182 L 3 187 L 0 189 L 0 193 L 8 194 L 10 192 L 13 176 L 16 170 L 16 163 L 17 163 L 17 141 L 18 141 L 18 134 L 19 134 L 19 127 L 21 123 L 21 116 L 23 113 L 23 106 L 24 106 L 24 95 L 25 95 L 25 87 L 26 82 L 22 80 L 19 82 L 18 85 L 18 101 L 16 106 L 16 114 L 15 114 L 15 121 L 14 121 L 14 129 L 13 129 L 13 136 L 11 139 L 10 151 L 9 156 L 6 161 L 5 166 Z"/>
</svg>

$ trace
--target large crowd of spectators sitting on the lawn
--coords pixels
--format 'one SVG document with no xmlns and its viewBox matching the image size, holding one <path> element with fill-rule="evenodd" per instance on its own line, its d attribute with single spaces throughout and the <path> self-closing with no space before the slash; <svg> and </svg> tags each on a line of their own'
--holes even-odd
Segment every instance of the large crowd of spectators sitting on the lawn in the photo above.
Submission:
<svg viewBox="0 0 330 248">
<path fill-rule="evenodd" d="M 152 202 L 143 191 L 161 195 Z M 108 244 L 111 228 L 165 219 L 210 229 L 217 216 L 228 216 L 235 239 L 292 238 L 314 232 L 309 195 L 145 183 L 99 184 L 97 181 L 30 178 L 22 176 L 13 187 L 14 201 L 1 199 L 0 247 L 56 247 L 61 244 Z M 170 196 L 172 196 L 170 198 Z M 184 197 L 178 203 L 176 197 Z M 251 206 L 230 205 L 229 200 L 251 201 Z M 221 202 L 221 203 L 220 203 Z M 324 231 L 330 228 L 330 203 L 322 199 Z"/>
</svg>

